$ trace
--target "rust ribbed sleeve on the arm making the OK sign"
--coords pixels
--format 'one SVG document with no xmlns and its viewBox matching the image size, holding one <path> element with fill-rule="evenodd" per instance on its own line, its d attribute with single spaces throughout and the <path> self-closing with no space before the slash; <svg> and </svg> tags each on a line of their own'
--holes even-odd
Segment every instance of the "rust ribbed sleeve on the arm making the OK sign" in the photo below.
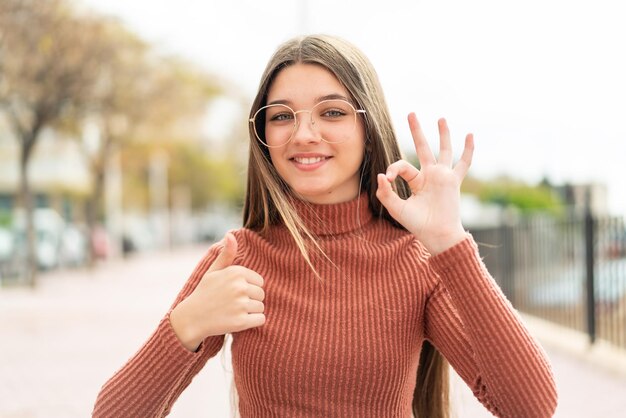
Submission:
<svg viewBox="0 0 626 418">
<path fill-rule="evenodd" d="M 425 337 L 498 417 L 547 418 L 556 387 L 545 353 L 487 272 L 471 237 L 431 257 L 439 282 Z"/>
</svg>

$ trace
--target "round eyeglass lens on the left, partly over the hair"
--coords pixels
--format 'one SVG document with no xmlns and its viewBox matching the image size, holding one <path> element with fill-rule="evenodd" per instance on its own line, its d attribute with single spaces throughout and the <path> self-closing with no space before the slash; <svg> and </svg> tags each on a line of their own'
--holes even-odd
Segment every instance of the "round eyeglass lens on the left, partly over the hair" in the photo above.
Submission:
<svg viewBox="0 0 626 418">
<path fill-rule="evenodd" d="M 268 147 L 280 147 L 291 139 L 296 116 L 285 105 L 269 105 L 259 109 L 254 116 L 254 132 Z"/>
</svg>

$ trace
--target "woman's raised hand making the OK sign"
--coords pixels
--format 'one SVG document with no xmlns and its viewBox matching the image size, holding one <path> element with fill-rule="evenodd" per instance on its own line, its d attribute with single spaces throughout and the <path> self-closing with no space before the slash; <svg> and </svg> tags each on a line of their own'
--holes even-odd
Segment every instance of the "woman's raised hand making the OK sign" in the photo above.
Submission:
<svg viewBox="0 0 626 418">
<path fill-rule="evenodd" d="M 378 175 L 376 197 L 391 216 L 417 237 L 432 254 L 439 254 L 466 237 L 461 223 L 461 183 L 467 174 L 474 152 L 472 134 L 465 137 L 461 159 L 453 165 L 450 131 L 445 119 L 439 119 L 439 159 L 433 155 L 417 117 L 409 114 L 409 127 L 420 169 L 404 160 Z M 407 181 L 411 196 L 401 199 L 392 189 L 397 176 Z"/>
</svg>

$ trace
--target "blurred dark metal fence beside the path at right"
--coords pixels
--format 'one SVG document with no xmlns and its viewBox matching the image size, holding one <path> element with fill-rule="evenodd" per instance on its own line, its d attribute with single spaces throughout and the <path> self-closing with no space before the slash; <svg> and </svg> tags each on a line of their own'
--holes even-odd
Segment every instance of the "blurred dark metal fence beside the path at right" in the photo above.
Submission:
<svg viewBox="0 0 626 418">
<path fill-rule="evenodd" d="M 585 213 L 470 229 L 517 309 L 626 349 L 624 226 Z"/>
</svg>

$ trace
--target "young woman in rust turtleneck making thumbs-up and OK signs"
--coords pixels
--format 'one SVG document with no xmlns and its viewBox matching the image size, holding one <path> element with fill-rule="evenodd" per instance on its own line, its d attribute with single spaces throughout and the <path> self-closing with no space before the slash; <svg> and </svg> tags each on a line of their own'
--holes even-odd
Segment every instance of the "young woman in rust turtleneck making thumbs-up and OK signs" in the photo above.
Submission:
<svg viewBox="0 0 626 418">
<path fill-rule="evenodd" d="M 242 417 L 446 417 L 441 354 L 496 416 L 550 417 L 548 361 L 461 224 L 472 135 L 454 164 L 445 120 L 437 157 L 408 121 L 419 169 L 359 50 L 280 46 L 250 111 L 244 227 L 209 249 L 94 416 L 166 415 L 232 334 Z"/>
</svg>

